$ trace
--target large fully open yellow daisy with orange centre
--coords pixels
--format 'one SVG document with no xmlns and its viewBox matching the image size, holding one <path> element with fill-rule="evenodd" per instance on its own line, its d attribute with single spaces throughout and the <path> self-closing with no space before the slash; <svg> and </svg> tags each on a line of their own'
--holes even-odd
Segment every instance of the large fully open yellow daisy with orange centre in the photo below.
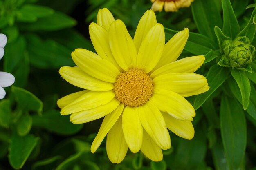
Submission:
<svg viewBox="0 0 256 170">
<path fill-rule="evenodd" d="M 162 149 L 171 147 L 167 129 L 192 139 L 195 110 L 184 97 L 204 93 L 209 86 L 204 76 L 193 73 L 204 56 L 177 60 L 189 30 L 180 31 L 165 44 L 164 27 L 148 10 L 132 39 L 125 24 L 104 8 L 99 10 L 97 24 L 90 24 L 89 33 L 97 54 L 76 49 L 72 59 L 77 66 L 59 71 L 67 82 L 86 90 L 57 103 L 62 115 L 71 114 L 74 124 L 105 116 L 92 153 L 107 135 L 112 163 L 120 163 L 128 148 L 161 161 Z"/>
</svg>

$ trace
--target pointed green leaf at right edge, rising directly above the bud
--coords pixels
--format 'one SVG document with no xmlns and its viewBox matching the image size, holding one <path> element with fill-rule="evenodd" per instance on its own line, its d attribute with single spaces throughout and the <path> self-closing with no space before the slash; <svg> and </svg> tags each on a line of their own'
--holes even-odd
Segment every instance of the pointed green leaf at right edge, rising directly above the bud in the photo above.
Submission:
<svg viewBox="0 0 256 170">
<path fill-rule="evenodd" d="M 246 36 L 252 42 L 254 39 L 255 31 L 256 31 L 256 24 L 253 24 L 253 18 L 256 15 L 256 8 L 253 10 L 251 18 L 245 28 L 238 34 L 238 36 Z"/>
</svg>

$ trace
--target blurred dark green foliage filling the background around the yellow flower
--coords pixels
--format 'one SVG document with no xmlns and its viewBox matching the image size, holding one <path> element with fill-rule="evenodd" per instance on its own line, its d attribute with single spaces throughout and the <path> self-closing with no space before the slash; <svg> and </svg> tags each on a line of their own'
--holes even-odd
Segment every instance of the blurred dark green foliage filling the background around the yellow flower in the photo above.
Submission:
<svg viewBox="0 0 256 170">
<path fill-rule="evenodd" d="M 0 101 L 0 170 L 256 169 L 256 62 L 250 64 L 252 72 L 219 66 L 215 29 L 232 39 L 246 36 L 256 46 L 256 5 L 246 9 L 256 0 L 230 1 L 195 0 L 177 13 L 156 13 L 166 40 L 189 28 L 180 58 L 205 55 L 198 73 L 207 76 L 211 88 L 187 98 L 197 109 L 192 140 L 171 133 L 163 161 L 128 152 L 117 165 L 108 160 L 106 141 L 90 152 L 102 120 L 75 125 L 59 114 L 57 99 L 79 88 L 65 82 L 58 69 L 74 66 L 74 49 L 94 51 L 88 25 L 96 22 L 99 9 L 110 9 L 133 36 L 150 0 L 0 0 L 0 33 L 8 37 L 0 67 L 16 77 Z"/>
</svg>

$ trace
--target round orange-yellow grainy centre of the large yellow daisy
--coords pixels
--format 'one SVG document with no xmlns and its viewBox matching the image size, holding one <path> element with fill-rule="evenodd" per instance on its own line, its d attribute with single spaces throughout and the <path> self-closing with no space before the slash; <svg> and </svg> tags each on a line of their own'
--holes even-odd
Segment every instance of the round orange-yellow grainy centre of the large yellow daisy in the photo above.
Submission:
<svg viewBox="0 0 256 170">
<path fill-rule="evenodd" d="M 153 82 L 144 71 L 132 68 L 117 77 L 114 92 L 116 98 L 124 105 L 141 106 L 153 94 Z"/>
</svg>

